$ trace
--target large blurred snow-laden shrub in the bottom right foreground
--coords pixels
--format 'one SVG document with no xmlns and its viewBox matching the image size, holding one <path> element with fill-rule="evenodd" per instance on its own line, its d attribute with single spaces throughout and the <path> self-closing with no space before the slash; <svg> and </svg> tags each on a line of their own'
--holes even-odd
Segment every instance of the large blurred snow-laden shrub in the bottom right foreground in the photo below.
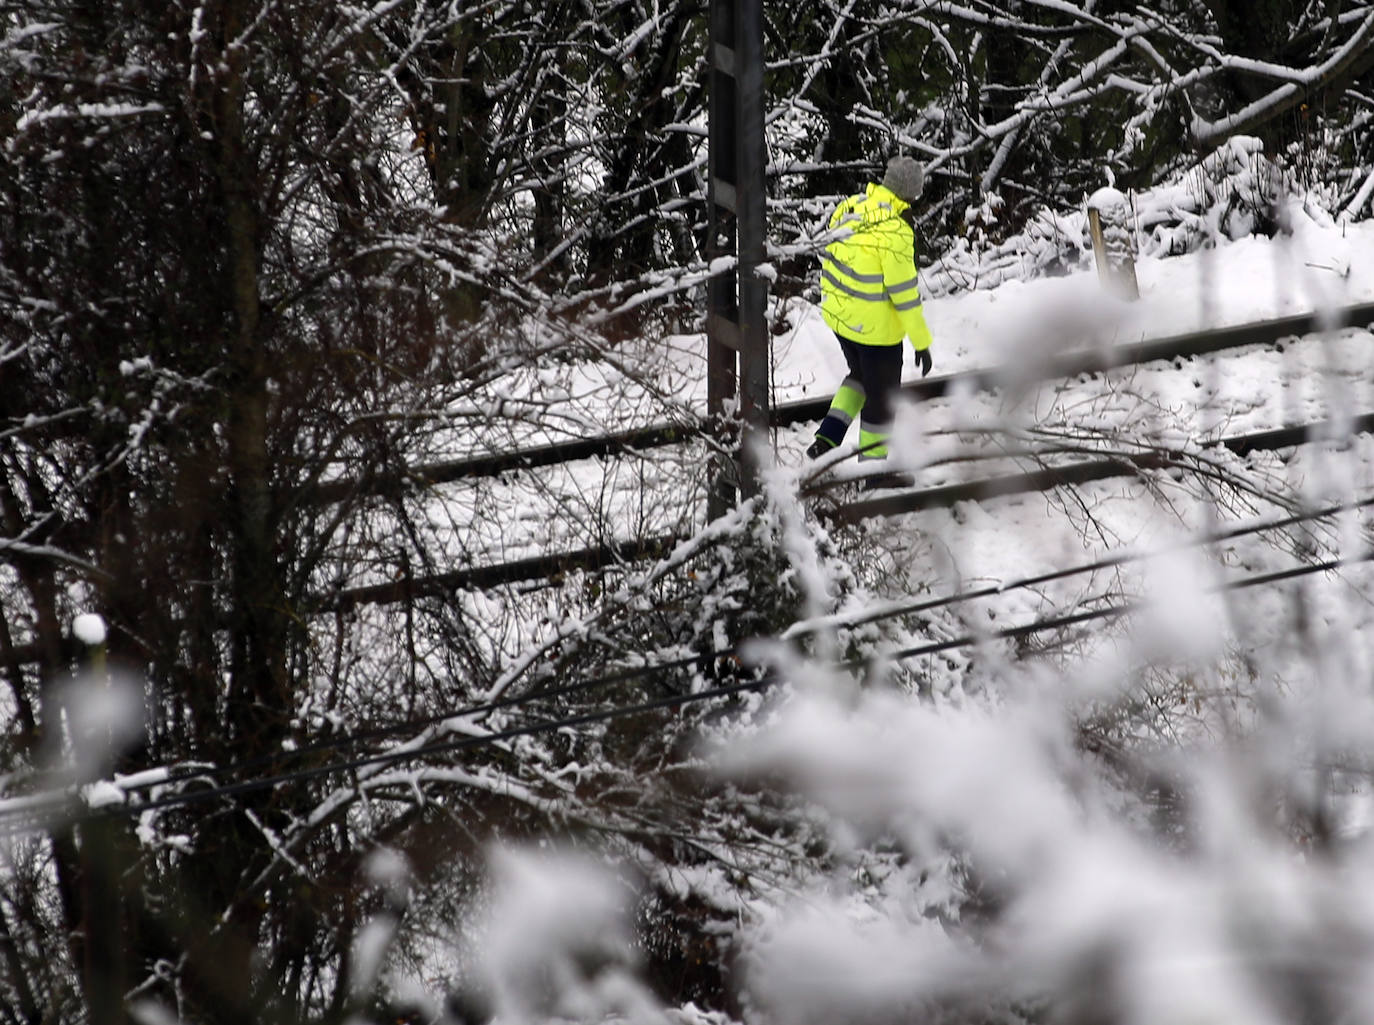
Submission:
<svg viewBox="0 0 1374 1025">
<path fill-rule="evenodd" d="M 746 930 L 756 1010 L 802 1024 L 1364 1020 L 1374 888 L 1338 801 L 1364 793 L 1348 769 L 1367 712 L 1337 727 L 1329 699 L 1260 684 L 1267 708 L 1227 717 L 1204 687 L 1169 716 L 1200 728 L 1172 743 L 1084 743 L 1074 724 L 1113 675 L 1009 671 L 1003 697 L 976 703 L 804 694 L 735 746 L 741 771 L 793 780 L 855 851 L 852 870 Z M 879 849 L 899 853 L 875 878 Z"/>
</svg>

